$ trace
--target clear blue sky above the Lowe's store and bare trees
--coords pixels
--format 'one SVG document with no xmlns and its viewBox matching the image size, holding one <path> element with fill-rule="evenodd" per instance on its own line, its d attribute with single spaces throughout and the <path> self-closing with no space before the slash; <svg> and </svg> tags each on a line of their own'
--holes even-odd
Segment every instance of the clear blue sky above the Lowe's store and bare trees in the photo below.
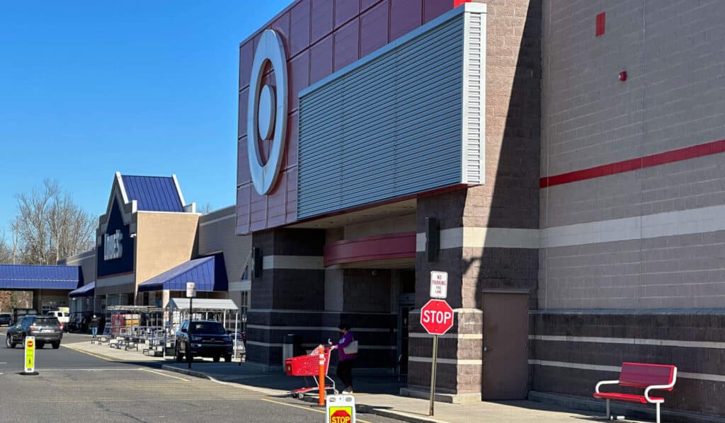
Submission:
<svg viewBox="0 0 725 423">
<path fill-rule="evenodd" d="M 0 231 L 47 177 L 94 215 L 116 171 L 233 204 L 239 42 L 289 3 L 0 4 Z"/>
</svg>

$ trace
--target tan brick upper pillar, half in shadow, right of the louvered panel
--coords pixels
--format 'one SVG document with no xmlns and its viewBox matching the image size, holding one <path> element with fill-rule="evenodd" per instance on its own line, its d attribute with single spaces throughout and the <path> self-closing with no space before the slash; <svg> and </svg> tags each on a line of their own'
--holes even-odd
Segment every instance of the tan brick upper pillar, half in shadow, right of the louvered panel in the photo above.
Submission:
<svg viewBox="0 0 725 423">
<path fill-rule="evenodd" d="M 536 228 L 542 6 L 485 3 L 486 183 L 468 189 L 463 226 Z"/>
</svg>

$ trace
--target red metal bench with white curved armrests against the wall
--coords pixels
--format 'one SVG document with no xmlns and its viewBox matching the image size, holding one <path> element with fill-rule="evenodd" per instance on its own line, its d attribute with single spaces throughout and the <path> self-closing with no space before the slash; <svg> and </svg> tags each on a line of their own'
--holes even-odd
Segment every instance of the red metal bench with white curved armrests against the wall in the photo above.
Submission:
<svg viewBox="0 0 725 423">
<path fill-rule="evenodd" d="M 664 398 L 650 396 L 650 390 L 672 390 L 677 380 L 677 367 L 666 364 L 622 363 L 619 380 L 602 380 L 597 383 L 594 398 L 607 400 L 607 418 L 611 419 L 609 401 L 626 401 L 629 403 L 655 404 L 657 406 L 657 423 L 660 423 L 660 404 Z M 600 392 L 602 385 L 620 385 L 629 388 L 642 388 L 644 395 L 629 393 Z"/>
</svg>

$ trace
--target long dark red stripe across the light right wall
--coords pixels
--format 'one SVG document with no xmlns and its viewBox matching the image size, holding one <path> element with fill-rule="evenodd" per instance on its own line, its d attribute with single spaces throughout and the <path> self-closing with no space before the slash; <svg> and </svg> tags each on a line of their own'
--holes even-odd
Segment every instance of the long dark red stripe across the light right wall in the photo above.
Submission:
<svg viewBox="0 0 725 423">
<path fill-rule="evenodd" d="M 678 150 L 643 156 L 637 159 L 602 164 L 602 166 L 575 170 L 573 172 L 561 173 L 560 175 L 545 176 L 539 180 L 539 186 L 541 188 L 548 188 L 554 185 L 563 185 L 565 183 L 573 183 L 580 180 L 594 179 L 595 177 L 631 172 L 632 170 L 644 169 L 645 167 L 682 162 L 682 160 L 695 159 L 695 157 L 709 156 L 711 154 L 723 152 L 725 152 L 725 140 L 713 141 L 711 143 L 700 144 L 698 146 L 679 148 Z"/>
</svg>

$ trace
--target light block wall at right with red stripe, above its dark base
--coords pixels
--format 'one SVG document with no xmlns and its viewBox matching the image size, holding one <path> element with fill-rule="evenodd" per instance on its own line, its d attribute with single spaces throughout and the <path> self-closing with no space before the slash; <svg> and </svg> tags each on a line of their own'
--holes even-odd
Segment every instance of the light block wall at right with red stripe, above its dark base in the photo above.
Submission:
<svg viewBox="0 0 725 423">
<path fill-rule="evenodd" d="M 540 225 L 577 239 L 542 248 L 540 307 L 721 303 L 724 19 L 720 1 L 545 2 Z"/>
</svg>

